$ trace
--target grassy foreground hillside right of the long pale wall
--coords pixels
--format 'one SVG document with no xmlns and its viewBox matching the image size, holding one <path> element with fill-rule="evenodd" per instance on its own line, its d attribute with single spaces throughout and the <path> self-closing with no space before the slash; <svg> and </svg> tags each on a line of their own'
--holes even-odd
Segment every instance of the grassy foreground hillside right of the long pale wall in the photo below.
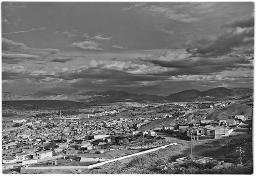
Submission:
<svg viewBox="0 0 256 176">
<path fill-rule="evenodd" d="M 229 169 L 214 170 L 212 169 L 212 167 L 216 165 L 214 163 L 199 164 L 191 161 L 177 166 L 176 168 L 167 166 L 167 169 L 162 169 L 156 167 L 189 155 L 190 147 L 189 144 L 186 144 L 184 146 L 170 146 L 144 155 L 105 164 L 96 169 L 83 170 L 82 173 L 252 174 L 252 140 L 250 138 L 197 143 L 195 151 L 198 156 L 213 157 L 236 165 L 239 163 L 236 147 L 240 146 L 244 147 L 246 151 L 242 160 L 244 165 L 243 168 L 233 167 Z"/>
</svg>

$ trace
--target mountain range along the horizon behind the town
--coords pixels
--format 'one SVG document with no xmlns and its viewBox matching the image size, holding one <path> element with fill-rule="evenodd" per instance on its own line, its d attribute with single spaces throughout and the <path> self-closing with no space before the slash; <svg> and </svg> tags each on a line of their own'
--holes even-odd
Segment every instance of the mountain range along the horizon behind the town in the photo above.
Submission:
<svg viewBox="0 0 256 176">
<path fill-rule="evenodd" d="M 207 91 L 187 90 L 168 96 L 156 96 L 147 94 L 131 94 L 124 91 L 95 92 L 81 90 L 69 95 L 55 94 L 50 92 L 37 92 L 27 95 L 15 95 L 3 92 L 2 100 L 72 100 L 77 102 L 105 102 L 113 103 L 120 101 L 136 101 L 144 103 L 152 102 L 182 102 L 182 101 L 214 101 L 214 100 L 236 100 L 253 98 L 253 90 L 248 88 L 226 89 L 217 87 Z"/>
</svg>

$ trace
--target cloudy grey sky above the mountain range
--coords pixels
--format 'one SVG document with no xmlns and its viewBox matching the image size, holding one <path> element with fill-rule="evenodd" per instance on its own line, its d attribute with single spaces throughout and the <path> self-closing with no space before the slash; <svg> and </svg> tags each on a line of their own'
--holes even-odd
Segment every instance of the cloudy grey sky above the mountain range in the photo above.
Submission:
<svg viewBox="0 0 256 176">
<path fill-rule="evenodd" d="M 3 92 L 253 88 L 253 2 L 1 5 Z"/>
</svg>

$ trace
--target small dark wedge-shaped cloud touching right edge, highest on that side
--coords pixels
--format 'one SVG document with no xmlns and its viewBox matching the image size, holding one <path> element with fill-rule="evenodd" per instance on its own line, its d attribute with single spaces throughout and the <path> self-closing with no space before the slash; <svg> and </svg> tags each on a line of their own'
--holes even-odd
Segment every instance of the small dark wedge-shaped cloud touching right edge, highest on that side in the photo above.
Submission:
<svg viewBox="0 0 256 176">
<path fill-rule="evenodd" d="M 252 28 L 254 27 L 254 17 L 246 18 L 246 19 L 239 19 L 233 20 L 226 25 L 222 26 L 223 28 Z"/>
</svg>

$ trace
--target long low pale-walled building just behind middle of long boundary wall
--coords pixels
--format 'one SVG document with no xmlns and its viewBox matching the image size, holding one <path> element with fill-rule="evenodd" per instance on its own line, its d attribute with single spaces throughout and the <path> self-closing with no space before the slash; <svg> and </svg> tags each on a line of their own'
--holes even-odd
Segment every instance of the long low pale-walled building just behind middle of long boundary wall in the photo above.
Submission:
<svg viewBox="0 0 256 176">
<path fill-rule="evenodd" d="M 81 162 L 102 162 L 113 159 L 110 155 L 107 154 L 97 154 L 97 153 L 86 153 L 80 157 Z"/>
</svg>

